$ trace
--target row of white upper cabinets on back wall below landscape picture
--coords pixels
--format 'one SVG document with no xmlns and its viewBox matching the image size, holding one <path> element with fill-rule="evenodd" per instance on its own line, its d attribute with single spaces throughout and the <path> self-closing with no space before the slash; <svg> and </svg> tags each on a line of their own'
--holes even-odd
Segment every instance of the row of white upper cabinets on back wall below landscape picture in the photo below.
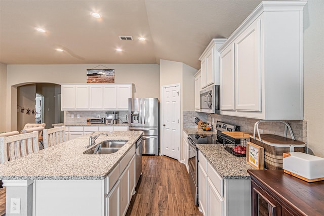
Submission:
<svg viewBox="0 0 324 216">
<path fill-rule="evenodd" d="M 61 84 L 61 110 L 128 110 L 132 83 Z"/>
</svg>

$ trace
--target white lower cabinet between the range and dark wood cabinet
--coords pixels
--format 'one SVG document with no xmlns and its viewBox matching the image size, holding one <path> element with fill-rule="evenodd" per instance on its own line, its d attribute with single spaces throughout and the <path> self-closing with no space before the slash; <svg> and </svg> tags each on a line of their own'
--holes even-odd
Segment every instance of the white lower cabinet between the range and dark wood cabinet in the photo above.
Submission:
<svg viewBox="0 0 324 216">
<path fill-rule="evenodd" d="M 223 179 L 198 152 L 198 201 L 205 216 L 251 215 L 251 181 Z"/>
</svg>

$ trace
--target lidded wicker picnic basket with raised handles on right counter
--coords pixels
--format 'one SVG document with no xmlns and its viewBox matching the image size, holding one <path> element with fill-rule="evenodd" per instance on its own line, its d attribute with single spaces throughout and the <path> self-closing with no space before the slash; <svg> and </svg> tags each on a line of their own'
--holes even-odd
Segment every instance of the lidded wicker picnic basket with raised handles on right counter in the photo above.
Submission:
<svg viewBox="0 0 324 216">
<path fill-rule="evenodd" d="M 279 121 L 284 123 L 285 126 L 285 137 L 280 137 L 276 135 L 263 134 L 262 138 L 259 133 L 258 124 L 262 121 L 257 121 L 254 125 L 253 137 L 250 137 L 250 142 L 259 145 L 264 148 L 264 168 L 265 169 L 282 169 L 282 155 L 285 152 L 305 152 L 305 143 L 296 141 L 292 133 L 291 127 L 287 122 Z M 273 121 L 273 120 L 271 120 Z M 290 131 L 292 139 L 287 137 L 287 128 Z M 258 137 L 256 138 L 256 131 L 258 132 Z"/>
</svg>

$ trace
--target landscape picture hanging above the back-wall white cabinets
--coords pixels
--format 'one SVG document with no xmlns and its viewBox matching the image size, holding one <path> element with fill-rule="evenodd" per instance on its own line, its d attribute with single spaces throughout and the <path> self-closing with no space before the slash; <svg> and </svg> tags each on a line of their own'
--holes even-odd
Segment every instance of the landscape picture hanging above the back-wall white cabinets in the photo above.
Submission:
<svg viewBox="0 0 324 216">
<path fill-rule="evenodd" d="M 115 69 L 87 69 L 87 83 L 115 82 Z"/>
</svg>

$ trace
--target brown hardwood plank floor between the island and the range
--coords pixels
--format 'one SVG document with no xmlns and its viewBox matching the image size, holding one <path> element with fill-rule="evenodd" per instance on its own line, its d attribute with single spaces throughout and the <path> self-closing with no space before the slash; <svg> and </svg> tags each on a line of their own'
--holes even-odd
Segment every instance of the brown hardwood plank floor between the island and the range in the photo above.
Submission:
<svg viewBox="0 0 324 216">
<path fill-rule="evenodd" d="M 203 215 L 194 205 L 184 164 L 166 156 L 143 156 L 142 173 L 126 215 Z"/>
</svg>

